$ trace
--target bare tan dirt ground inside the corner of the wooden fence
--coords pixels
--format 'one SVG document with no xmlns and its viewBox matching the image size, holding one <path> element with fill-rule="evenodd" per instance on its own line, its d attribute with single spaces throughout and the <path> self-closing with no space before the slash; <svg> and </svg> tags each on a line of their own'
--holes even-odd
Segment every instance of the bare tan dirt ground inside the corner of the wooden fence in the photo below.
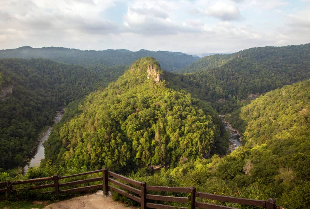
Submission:
<svg viewBox="0 0 310 209">
<path fill-rule="evenodd" d="M 97 191 L 93 194 L 75 197 L 72 199 L 50 204 L 43 209 L 62 208 L 62 209 L 136 209 L 136 207 L 126 207 L 123 203 L 113 201 L 111 194 L 106 197 L 103 191 Z"/>
</svg>

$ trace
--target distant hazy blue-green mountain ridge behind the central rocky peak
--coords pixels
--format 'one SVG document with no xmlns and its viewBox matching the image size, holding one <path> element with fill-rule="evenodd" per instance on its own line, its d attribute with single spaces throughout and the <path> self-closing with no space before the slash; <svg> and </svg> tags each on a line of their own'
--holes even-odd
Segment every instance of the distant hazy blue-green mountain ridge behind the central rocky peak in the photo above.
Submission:
<svg viewBox="0 0 310 209">
<path fill-rule="evenodd" d="M 30 46 L 18 49 L 0 50 L 0 58 L 45 58 L 56 62 L 63 62 L 77 65 L 130 65 L 141 57 L 154 57 L 157 59 L 163 70 L 174 71 L 187 66 L 198 57 L 180 52 L 149 51 L 141 49 L 132 52 L 126 49 L 108 49 L 103 51 L 67 49 L 63 47 L 32 48 Z"/>
</svg>

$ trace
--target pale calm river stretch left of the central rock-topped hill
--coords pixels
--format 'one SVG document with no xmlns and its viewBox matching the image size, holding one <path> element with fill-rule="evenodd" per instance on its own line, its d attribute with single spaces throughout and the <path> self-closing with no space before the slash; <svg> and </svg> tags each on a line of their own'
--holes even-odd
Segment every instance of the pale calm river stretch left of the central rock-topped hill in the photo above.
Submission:
<svg viewBox="0 0 310 209">
<path fill-rule="evenodd" d="M 61 109 L 60 111 L 56 112 L 56 115 L 54 117 L 54 122 L 57 123 L 61 120 L 61 118 L 64 115 L 64 109 Z M 35 154 L 35 156 L 33 156 L 33 158 L 30 160 L 29 164 L 27 164 L 24 167 L 24 173 L 27 172 L 28 168 L 31 168 L 33 166 L 39 166 L 40 162 L 42 159 L 44 159 L 44 147 L 42 146 L 42 144 L 48 139 L 48 137 L 51 134 L 51 131 L 53 129 L 53 126 L 50 126 L 47 131 L 45 131 L 45 133 L 43 134 L 43 136 L 38 139 L 38 148 L 37 148 L 37 153 Z"/>
</svg>

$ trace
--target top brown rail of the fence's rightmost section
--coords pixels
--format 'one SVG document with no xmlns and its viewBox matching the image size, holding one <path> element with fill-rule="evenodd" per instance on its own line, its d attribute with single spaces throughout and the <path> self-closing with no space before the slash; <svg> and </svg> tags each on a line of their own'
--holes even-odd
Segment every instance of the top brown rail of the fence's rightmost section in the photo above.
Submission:
<svg viewBox="0 0 310 209">
<path fill-rule="evenodd" d="M 264 200 L 254 200 L 254 199 L 245 199 L 245 198 L 237 198 L 237 197 L 228 197 L 216 194 L 208 194 L 202 192 L 196 192 L 196 197 L 212 199 L 217 201 L 227 201 L 230 203 L 239 203 L 244 205 L 253 205 L 259 207 L 266 207 L 266 201 Z"/>
</svg>

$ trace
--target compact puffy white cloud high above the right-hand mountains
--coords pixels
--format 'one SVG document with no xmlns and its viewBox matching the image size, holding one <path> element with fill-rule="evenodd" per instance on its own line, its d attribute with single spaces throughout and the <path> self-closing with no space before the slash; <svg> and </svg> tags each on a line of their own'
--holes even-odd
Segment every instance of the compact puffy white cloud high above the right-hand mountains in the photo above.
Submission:
<svg viewBox="0 0 310 209">
<path fill-rule="evenodd" d="M 223 21 L 241 19 L 238 7 L 224 2 L 216 2 L 215 4 L 208 6 L 205 9 L 204 14 Z"/>
</svg>

